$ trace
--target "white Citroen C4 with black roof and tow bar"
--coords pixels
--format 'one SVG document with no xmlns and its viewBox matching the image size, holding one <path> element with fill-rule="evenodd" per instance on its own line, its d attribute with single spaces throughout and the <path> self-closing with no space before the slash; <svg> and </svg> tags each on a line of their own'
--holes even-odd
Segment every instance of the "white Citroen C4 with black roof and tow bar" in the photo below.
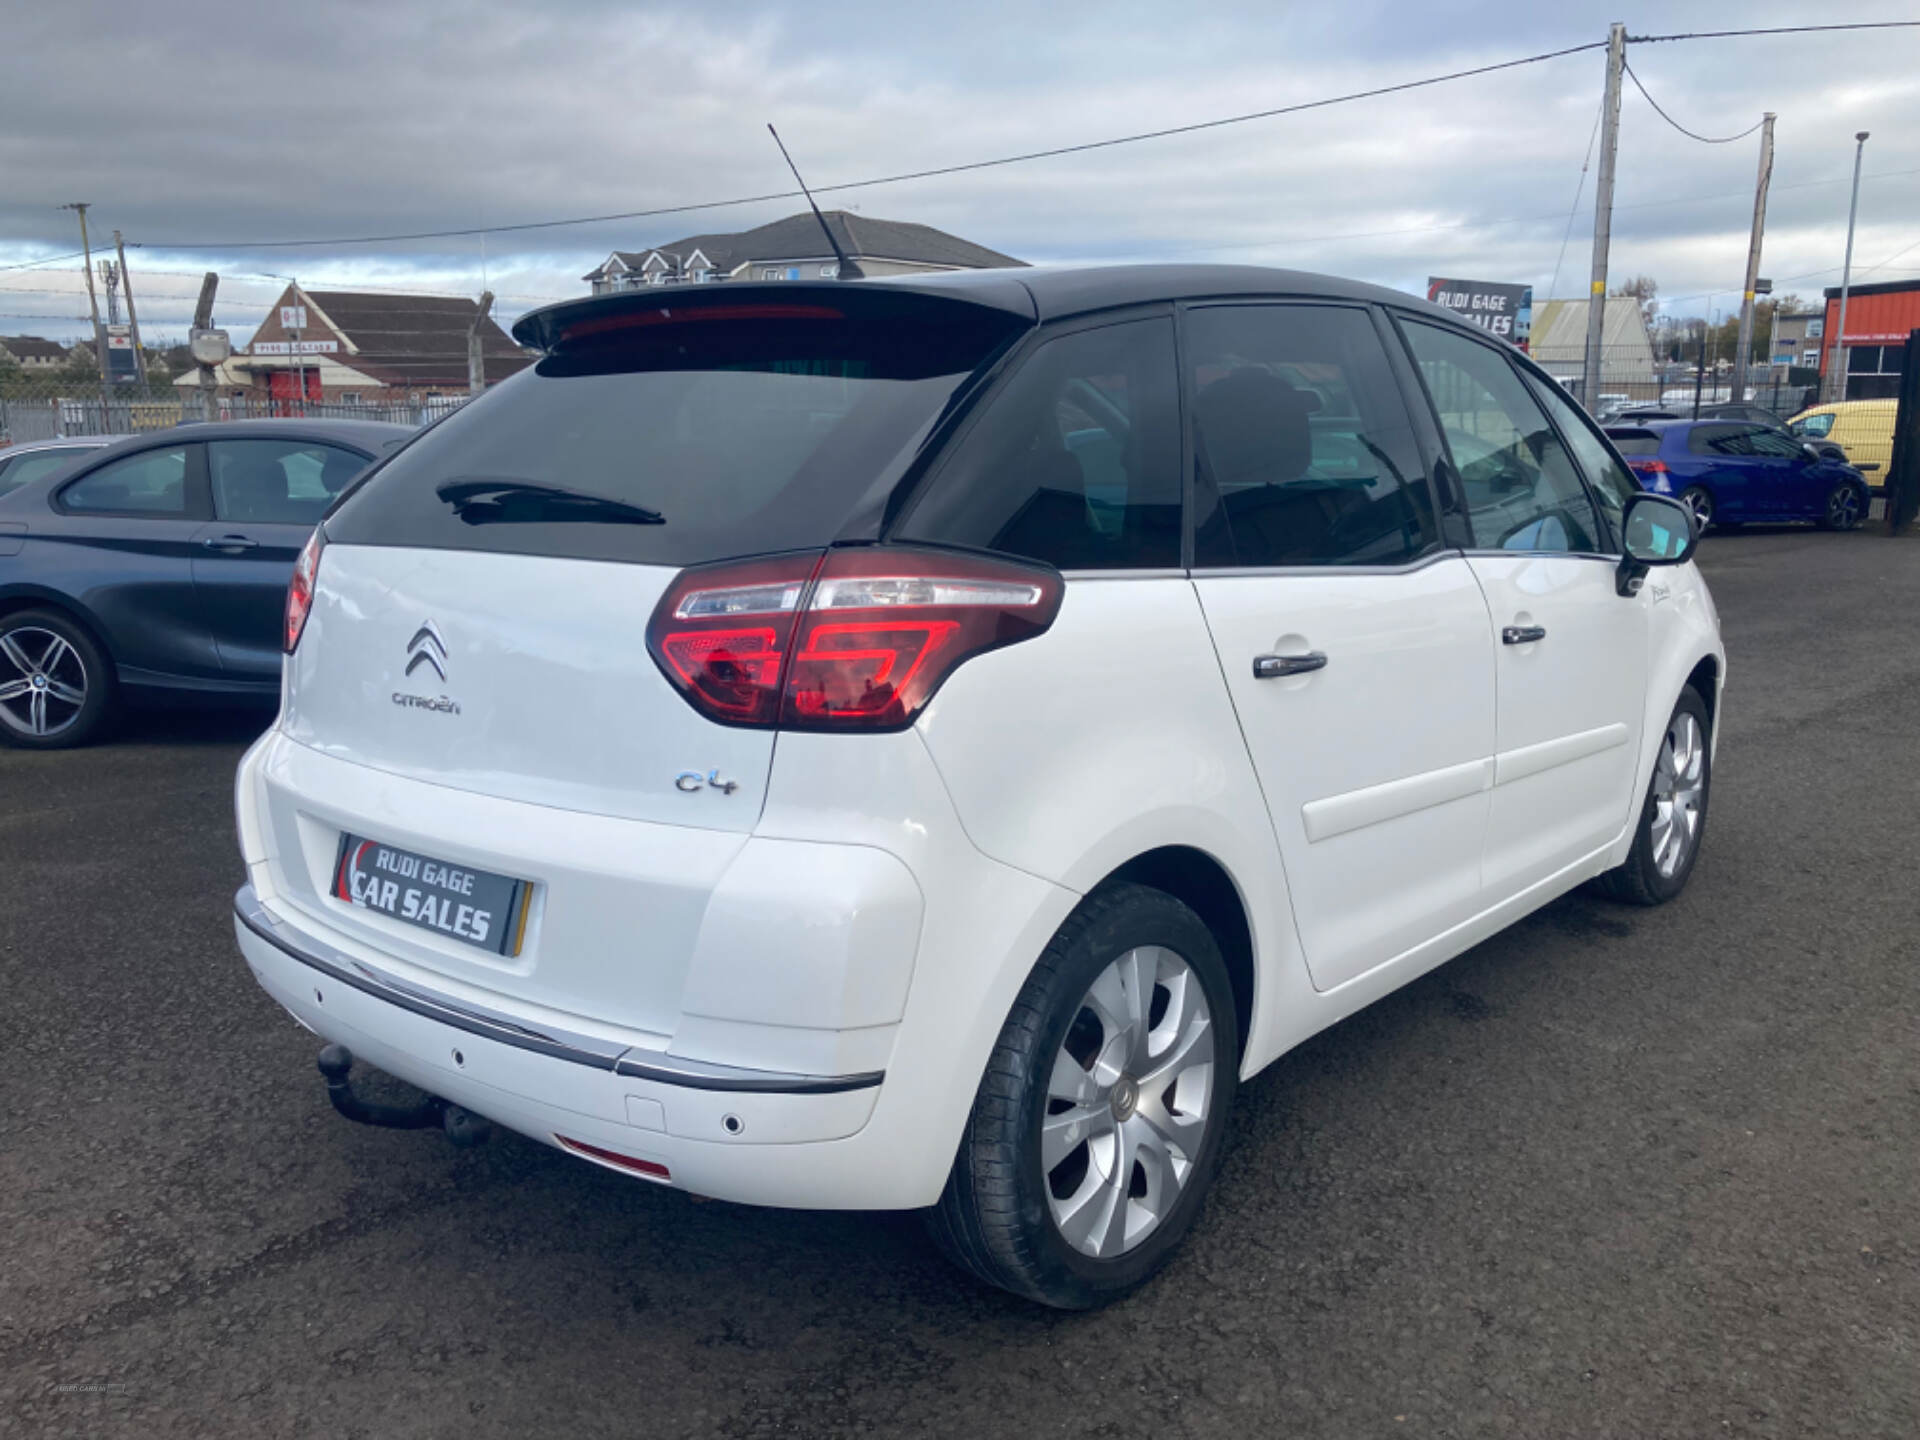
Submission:
<svg viewBox="0 0 1920 1440">
<path fill-rule="evenodd" d="M 313 536 L 240 766 L 240 948 L 351 1117 L 924 1208 L 1092 1306 L 1238 1081 L 1574 885 L 1688 881 L 1690 516 L 1432 305 L 998 271 L 515 334 Z"/>
</svg>

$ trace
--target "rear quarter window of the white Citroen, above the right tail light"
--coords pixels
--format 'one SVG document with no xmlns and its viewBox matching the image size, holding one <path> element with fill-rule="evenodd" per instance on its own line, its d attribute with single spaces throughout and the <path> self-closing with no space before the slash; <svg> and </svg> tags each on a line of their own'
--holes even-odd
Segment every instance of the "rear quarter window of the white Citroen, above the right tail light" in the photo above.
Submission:
<svg viewBox="0 0 1920 1440">
<path fill-rule="evenodd" d="M 1181 563 L 1173 319 L 1041 344 L 900 524 L 1062 570 Z"/>
</svg>

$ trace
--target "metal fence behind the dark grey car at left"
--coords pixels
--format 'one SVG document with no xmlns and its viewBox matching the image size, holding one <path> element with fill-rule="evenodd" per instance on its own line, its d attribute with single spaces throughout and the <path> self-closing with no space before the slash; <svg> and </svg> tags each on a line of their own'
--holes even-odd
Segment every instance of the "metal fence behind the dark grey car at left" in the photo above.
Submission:
<svg viewBox="0 0 1920 1440">
<path fill-rule="evenodd" d="M 424 396 L 415 403 L 338 403 L 269 399 L 263 396 L 207 397 L 198 386 L 150 384 L 100 396 L 98 382 L 13 378 L 0 382 L 0 445 L 69 436 L 127 436 L 192 420 L 328 419 L 430 424 L 465 405 L 468 396 Z"/>
</svg>

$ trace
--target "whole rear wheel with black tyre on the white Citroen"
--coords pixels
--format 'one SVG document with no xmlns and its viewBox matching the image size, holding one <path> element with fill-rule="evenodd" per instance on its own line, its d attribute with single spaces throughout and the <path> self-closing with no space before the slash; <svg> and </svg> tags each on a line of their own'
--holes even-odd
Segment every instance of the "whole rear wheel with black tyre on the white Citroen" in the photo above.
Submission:
<svg viewBox="0 0 1920 1440">
<path fill-rule="evenodd" d="M 1200 1213 L 1240 1066 L 1233 985 L 1185 904 L 1089 895 L 1046 945 L 987 1062 L 935 1242 L 1062 1309 L 1146 1281 Z"/>
</svg>

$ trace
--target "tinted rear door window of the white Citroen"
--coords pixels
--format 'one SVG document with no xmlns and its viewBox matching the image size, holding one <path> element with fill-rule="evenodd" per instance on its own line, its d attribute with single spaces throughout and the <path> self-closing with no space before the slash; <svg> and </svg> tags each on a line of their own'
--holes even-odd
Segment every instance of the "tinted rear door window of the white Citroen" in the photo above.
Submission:
<svg viewBox="0 0 1920 1440">
<path fill-rule="evenodd" d="M 1413 426 L 1367 311 L 1188 311 L 1194 564 L 1398 564 L 1434 540 Z"/>
</svg>

